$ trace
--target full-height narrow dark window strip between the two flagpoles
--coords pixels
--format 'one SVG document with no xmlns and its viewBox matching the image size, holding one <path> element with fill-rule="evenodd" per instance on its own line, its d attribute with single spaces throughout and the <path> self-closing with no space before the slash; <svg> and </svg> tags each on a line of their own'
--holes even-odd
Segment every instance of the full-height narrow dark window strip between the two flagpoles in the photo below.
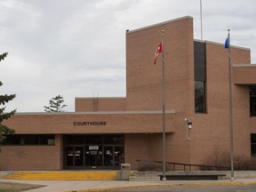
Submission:
<svg viewBox="0 0 256 192">
<path fill-rule="evenodd" d="M 195 113 L 206 113 L 205 43 L 194 42 Z"/>
</svg>

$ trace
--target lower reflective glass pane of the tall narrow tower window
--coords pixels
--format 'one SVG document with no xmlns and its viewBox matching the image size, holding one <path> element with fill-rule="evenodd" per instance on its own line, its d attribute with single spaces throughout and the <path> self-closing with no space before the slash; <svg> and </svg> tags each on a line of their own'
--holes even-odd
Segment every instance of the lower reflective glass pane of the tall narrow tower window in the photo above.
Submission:
<svg viewBox="0 0 256 192">
<path fill-rule="evenodd" d="M 205 84 L 195 81 L 195 112 L 205 113 Z"/>
</svg>

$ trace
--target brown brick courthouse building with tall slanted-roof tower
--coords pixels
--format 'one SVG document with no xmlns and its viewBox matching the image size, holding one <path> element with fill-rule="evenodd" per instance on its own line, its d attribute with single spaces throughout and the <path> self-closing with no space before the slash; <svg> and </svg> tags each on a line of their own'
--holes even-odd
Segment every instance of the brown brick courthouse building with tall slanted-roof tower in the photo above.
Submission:
<svg viewBox="0 0 256 192">
<path fill-rule="evenodd" d="M 77 97 L 75 112 L 17 113 L 5 121 L 16 132 L 1 148 L 0 169 L 116 169 L 126 163 L 136 170 L 136 159 L 162 161 L 161 55 L 153 64 L 162 30 L 166 161 L 202 164 L 214 148 L 229 152 L 227 36 L 221 44 L 195 40 L 187 16 L 126 31 L 126 97 Z M 255 156 L 256 65 L 250 49 L 231 45 L 230 52 L 234 154 Z"/>
</svg>

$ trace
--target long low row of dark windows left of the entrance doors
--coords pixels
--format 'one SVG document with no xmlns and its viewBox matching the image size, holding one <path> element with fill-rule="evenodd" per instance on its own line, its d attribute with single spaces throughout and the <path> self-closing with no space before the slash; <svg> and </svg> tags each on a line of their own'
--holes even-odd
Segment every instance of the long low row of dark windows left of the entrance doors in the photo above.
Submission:
<svg viewBox="0 0 256 192">
<path fill-rule="evenodd" d="M 54 145 L 54 134 L 12 134 L 5 135 L 3 145 Z"/>
</svg>

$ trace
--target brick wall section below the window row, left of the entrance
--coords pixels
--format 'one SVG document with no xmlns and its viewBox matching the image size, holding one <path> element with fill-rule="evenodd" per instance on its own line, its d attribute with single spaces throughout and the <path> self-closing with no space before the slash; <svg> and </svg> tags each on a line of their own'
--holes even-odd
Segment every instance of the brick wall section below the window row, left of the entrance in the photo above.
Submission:
<svg viewBox="0 0 256 192">
<path fill-rule="evenodd" d="M 61 170 L 61 136 L 54 146 L 2 146 L 0 170 Z"/>
</svg>

